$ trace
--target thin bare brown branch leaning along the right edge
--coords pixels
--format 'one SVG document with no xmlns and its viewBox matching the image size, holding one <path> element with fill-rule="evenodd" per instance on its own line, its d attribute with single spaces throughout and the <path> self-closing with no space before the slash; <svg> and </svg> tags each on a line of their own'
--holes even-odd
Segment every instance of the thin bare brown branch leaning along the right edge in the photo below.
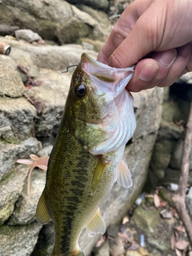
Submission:
<svg viewBox="0 0 192 256">
<path fill-rule="evenodd" d="M 190 114 L 188 122 L 186 125 L 186 138 L 184 141 L 183 151 L 182 151 L 182 165 L 181 165 L 181 175 L 178 184 L 178 192 L 174 194 L 173 201 L 178 215 L 182 219 L 183 225 L 186 228 L 186 233 L 190 240 L 190 245 L 192 246 L 192 222 L 189 214 L 186 211 L 186 186 L 189 176 L 190 169 L 190 145 L 192 138 L 192 102 L 190 103 Z"/>
</svg>

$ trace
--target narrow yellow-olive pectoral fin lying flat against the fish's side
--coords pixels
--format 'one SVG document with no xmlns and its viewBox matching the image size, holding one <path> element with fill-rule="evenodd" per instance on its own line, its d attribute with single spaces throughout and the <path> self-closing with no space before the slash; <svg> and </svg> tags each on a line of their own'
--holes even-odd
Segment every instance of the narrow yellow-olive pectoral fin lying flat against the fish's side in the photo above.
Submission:
<svg viewBox="0 0 192 256">
<path fill-rule="evenodd" d="M 91 185 L 91 194 L 94 195 L 95 191 L 98 188 L 98 184 L 102 178 L 102 174 L 106 168 L 106 162 L 102 162 L 102 160 L 98 161 L 98 164 L 94 170 L 94 175 L 92 178 L 92 185 Z"/>
</svg>

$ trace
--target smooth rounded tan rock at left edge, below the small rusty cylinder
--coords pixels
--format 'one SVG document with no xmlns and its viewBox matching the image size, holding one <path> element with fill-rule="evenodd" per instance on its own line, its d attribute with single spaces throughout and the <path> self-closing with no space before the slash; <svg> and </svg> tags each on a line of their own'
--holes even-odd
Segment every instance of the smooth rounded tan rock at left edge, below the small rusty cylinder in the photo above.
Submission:
<svg viewBox="0 0 192 256">
<path fill-rule="evenodd" d="M 9 56 L 0 54 L 0 95 L 17 98 L 23 93 L 24 85 L 16 63 Z"/>
</svg>

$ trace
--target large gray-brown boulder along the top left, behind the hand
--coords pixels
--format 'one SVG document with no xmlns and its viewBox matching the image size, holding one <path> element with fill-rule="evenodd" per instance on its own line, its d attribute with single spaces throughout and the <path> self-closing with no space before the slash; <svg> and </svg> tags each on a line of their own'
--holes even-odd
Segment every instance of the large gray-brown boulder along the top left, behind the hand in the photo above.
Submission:
<svg viewBox="0 0 192 256">
<path fill-rule="evenodd" d="M 43 39 L 58 41 L 61 44 L 75 42 L 78 38 L 86 36 L 92 37 L 94 30 L 99 30 L 98 35 L 102 38 L 98 22 L 89 14 L 79 12 L 75 6 L 63 0 L 2 0 L 0 22 L 14 24 L 20 29 L 33 30 Z"/>
</svg>

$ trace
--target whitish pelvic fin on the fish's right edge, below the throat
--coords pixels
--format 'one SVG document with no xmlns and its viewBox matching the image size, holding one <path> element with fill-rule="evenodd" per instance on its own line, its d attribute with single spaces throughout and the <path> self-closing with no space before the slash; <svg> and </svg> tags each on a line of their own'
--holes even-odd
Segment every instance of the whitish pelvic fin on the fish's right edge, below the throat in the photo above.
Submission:
<svg viewBox="0 0 192 256">
<path fill-rule="evenodd" d="M 133 185 L 130 170 L 126 164 L 126 159 L 122 158 L 120 165 L 118 166 L 118 178 L 117 182 L 119 185 L 124 186 L 126 188 Z"/>
</svg>

